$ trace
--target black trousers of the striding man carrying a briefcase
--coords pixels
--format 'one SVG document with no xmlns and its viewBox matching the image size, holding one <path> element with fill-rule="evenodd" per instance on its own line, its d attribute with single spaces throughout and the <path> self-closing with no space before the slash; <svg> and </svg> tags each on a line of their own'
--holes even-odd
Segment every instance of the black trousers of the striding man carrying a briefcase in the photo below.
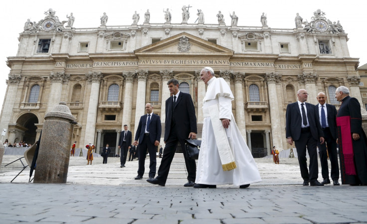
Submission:
<svg viewBox="0 0 367 224">
<path fill-rule="evenodd" d="M 188 136 L 188 135 L 187 135 Z M 174 159 L 176 148 L 179 142 L 184 153 L 185 165 L 187 169 L 187 180 L 195 182 L 196 177 L 196 163 L 195 160 L 191 160 L 187 157 L 186 151 L 184 149 L 184 139 L 179 139 L 177 136 L 175 128 L 171 129 L 170 136 L 166 142 L 165 149 L 163 150 L 163 158 L 161 160 L 161 166 L 158 169 L 157 179 L 166 184 L 168 173 L 170 172 L 170 167 L 172 160 Z"/>
</svg>

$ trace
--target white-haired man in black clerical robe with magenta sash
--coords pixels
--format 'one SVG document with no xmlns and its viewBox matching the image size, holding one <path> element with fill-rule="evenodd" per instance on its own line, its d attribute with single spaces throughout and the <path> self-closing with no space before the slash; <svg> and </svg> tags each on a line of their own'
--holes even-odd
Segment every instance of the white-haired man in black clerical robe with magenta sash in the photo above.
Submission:
<svg viewBox="0 0 367 224">
<path fill-rule="evenodd" d="M 362 129 L 361 105 L 340 86 L 335 98 L 342 102 L 337 114 L 342 184 L 367 185 L 367 138 Z"/>
</svg>

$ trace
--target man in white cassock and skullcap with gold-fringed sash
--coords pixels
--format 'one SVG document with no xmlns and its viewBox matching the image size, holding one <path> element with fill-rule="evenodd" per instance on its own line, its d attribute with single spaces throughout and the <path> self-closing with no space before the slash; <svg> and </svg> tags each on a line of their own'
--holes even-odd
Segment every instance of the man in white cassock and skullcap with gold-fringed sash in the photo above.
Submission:
<svg viewBox="0 0 367 224">
<path fill-rule="evenodd" d="M 232 91 L 210 67 L 200 72 L 208 85 L 203 102 L 204 123 L 194 188 L 233 184 L 247 188 L 260 173 L 232 114 Z M 243 118 L 244 119 L 244 118 Z"/>
</svg>

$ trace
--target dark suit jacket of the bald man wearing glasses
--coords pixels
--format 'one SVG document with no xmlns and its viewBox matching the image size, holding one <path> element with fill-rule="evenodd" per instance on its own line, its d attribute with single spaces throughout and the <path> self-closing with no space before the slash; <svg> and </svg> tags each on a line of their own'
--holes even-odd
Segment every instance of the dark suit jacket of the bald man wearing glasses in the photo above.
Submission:
<svg viewBox="0 0 367 224">
<path fill-rule="evenodd" d="M 307 109 L 307 118 L 310 123 L 310 131 L 312 137 L 319 141 L 320 137 L 324 137 L 319 121 L 319 111 L 315 110 L 315 105 L 305 103 Z M 292 137 L 293 141 L 298 141 L 301 136 L 302 116 L 298 106 L 298 102 L 288 104 L 286 112 L 286 137 Z"/>
</svg>

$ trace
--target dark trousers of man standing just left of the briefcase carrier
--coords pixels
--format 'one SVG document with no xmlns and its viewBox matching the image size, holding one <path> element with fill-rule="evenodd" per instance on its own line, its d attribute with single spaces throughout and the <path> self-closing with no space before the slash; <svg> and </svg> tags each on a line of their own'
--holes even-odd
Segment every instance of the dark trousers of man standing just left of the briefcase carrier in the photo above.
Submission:
<svg viewBox="0 0 367 224">
<path fill-rule="evenodd" d="M 139 144 L 139 169 L 138 175 L 144 175 L 145 171 L 145 158 L 147 157 L 147 149 L 149 153 L 149 177 L 154 178 L 156 176 L 156 167 L 157 167 L 157 159 L 156 159 L 156 146 L 150 142 L 149 136 L 144 135 L 144 139 L 141 144 Z"/>
</svg>

